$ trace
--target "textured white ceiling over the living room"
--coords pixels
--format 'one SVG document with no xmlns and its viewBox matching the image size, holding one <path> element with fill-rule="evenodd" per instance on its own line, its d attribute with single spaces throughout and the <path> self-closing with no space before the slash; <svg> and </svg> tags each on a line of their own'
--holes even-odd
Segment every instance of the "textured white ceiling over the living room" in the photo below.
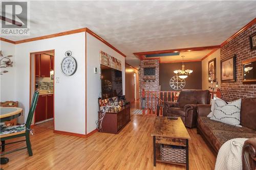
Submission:
<svg viewBox="0 0 256 170">
<path fill-rule="evenodd" d="M 127 55 L 218 45 L 256 16 L 255 1 L 31 1 L 31 35 L 88 27 Z"/>
</svg>

